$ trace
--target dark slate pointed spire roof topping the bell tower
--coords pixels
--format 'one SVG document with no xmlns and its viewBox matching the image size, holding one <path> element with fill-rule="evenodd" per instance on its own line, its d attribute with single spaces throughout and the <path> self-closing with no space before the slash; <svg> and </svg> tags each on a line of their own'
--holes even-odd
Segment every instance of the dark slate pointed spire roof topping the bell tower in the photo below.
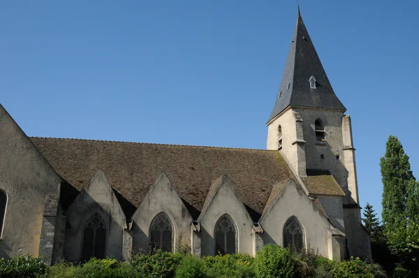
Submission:
<svg viewBox="0 0 419 278">
<path fill-rule="evenodd" d="M 314 76 L 316 89 L 310 89 L 309 79 Z M 298 7 L 297 24 L 286 59 L 284 73 L 274 109 L 267 122 L 289 105 L 346 110 L 333 92 L 328 76 L 321 65 Z"/>
</svg>

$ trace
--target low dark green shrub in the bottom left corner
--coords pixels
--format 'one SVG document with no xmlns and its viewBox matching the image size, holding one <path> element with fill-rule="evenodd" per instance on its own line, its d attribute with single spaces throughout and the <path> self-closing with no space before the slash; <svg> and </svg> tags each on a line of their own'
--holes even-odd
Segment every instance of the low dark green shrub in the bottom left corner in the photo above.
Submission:
<svg viewBox="0 0 419 278">
<path fill-rule="evenodd" d="M 36 277 L 43 275 L 46 270 L 47 265 L 41 258 L 17 256 L 7 261 L 0 258 L 0 277 Z"/>
</svg>

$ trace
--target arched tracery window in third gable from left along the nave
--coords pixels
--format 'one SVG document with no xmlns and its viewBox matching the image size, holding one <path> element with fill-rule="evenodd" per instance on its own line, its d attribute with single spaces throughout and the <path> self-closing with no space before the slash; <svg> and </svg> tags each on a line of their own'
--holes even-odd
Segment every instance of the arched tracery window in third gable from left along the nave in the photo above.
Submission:
<svg viewBox="0 0 419 278">
<path fill-rule="evenodd" d="M 227 214 L 215 225 L 216 254 L 235 254 L 237 252 L 237 228 Z"/>
</svg>

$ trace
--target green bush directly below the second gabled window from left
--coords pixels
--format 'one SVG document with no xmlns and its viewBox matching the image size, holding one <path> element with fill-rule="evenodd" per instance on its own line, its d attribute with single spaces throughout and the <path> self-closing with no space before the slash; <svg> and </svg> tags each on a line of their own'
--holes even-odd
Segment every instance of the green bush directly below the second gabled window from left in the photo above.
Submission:
<svg viewBox="0 0 419 278">
<path fill-rule="evenodd" d="M 182 254 L 156 251 L 155 254 L 138 254 L 131 258 L 131 265 L 145 277 L 173 277 Z"/>
</svg>

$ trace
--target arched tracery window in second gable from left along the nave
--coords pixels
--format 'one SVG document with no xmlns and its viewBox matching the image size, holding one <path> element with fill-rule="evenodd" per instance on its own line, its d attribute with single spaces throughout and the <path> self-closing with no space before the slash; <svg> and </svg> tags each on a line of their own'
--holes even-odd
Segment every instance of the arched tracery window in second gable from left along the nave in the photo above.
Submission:
<svg viewBox="0 0 419 278">
<path fill-rule="evenodd" d="M 161 212 L 154 217 L 150 226 L 150 240 L 163 251 L 173 251 L 173 224 L 166 213 Z"/>
</svg>

